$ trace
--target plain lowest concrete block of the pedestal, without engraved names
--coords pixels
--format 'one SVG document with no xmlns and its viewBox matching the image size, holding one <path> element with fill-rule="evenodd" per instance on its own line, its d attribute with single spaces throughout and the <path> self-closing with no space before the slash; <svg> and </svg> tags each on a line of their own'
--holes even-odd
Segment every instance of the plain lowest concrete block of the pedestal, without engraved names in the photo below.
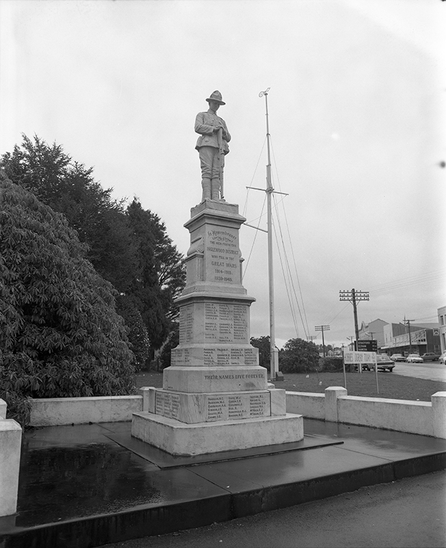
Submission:
<svg viewBox="0 0 446 548">
<path fill-rule="evenodd" d="M 172 455 L 203 455 L 302 440 L 302 415 L 185 424 L 153 413 L 133 413 L 131 435 Z"/>
</svg>

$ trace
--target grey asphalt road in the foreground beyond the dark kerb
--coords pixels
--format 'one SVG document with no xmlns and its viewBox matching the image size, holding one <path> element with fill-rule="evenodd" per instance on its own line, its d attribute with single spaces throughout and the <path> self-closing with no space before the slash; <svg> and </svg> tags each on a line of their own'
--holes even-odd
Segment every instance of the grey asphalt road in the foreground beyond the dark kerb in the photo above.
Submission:
<svg viewBox="0 0 446 548">
<path fill-rule="evenodd" d="M 107 548 L 446 546 L 446 471 Z"/>
</svg>

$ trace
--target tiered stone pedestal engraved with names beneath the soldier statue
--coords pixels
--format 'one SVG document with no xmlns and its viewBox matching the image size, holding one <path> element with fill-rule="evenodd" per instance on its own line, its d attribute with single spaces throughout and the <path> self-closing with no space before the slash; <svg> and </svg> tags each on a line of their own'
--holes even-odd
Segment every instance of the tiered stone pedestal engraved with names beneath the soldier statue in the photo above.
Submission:
<svg viewBox="0 0 446 548">
<path fill-rule="evenodd" d="M 191 245 L 181 297 L 179 345 L 134 413 L 132 436 L 176 455 L 246 449 L 303 438 L 301 415 L 286 414 L 285 390 L 267 386 L 250 345 L 250 305 L 241 284 L 238 206 L 206 200 L 185 223 Z"/>
</svg>

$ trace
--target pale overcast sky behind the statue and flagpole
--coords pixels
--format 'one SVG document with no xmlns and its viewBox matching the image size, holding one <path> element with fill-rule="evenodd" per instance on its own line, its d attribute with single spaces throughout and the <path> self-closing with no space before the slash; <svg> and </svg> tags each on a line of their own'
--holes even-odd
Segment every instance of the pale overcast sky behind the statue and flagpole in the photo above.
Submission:
<svg viewBox="0 0 446 548">
<path fill-rule="evenodd" d="M 369 291 L 359 323 L 436 321 L 446 2 L 0 0 L 0 21 L 0 154 L 21 134 L 57 142 L 116 199 L 157 213 L 182 253 L 201 198 L 194 120 L 214 90 L 232 135 L 226 201 L 266 228 L 265 193 L 246 186 L 265 188 L 270 88 L 273 185 L 288 194 L 274 208 L 278 346 L 315 325 L 347 344 L 353 307 L 339 290 Z M 241 227 L 252 336 L 269 334 L 266 243 Z"/>
</svg>

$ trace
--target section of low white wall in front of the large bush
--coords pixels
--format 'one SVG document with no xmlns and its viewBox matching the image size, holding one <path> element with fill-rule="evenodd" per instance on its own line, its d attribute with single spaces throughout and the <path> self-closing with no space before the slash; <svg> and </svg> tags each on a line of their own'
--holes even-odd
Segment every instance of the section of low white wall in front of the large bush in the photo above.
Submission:
<svg viewBox="0 0 446 548">
<path fill-rule="evenodd" d="M 31 400 L 31 426 L 131 421 L 142 411 L 142 396 L 42 398 Z"/>
</svg>

